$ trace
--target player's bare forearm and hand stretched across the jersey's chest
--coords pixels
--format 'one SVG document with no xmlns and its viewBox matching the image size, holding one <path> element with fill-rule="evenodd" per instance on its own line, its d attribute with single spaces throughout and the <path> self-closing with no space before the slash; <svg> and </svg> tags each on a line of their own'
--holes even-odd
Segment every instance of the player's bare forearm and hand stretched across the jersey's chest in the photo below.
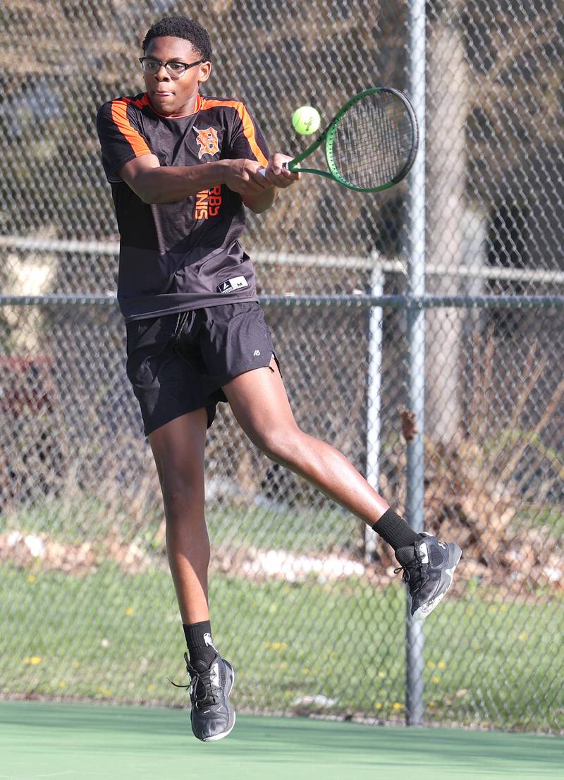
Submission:
<svg viewBox="0 0 564 780">
<path fill-rule="evenodd" d="M 257 204 L 264 211 L 261 205 L 271 199 L 268 208 L 274 202 L 274 189 L 272 183 L 257 174 L 260 167 L 254 160 L 216 160 L 168 168 L 161 167 L 156 155 L 145 154 L 126 162 L 118 175 L 144 203 L 173 203 L 225 184 L 239 193 L 251 209 Z"/>
</svg>

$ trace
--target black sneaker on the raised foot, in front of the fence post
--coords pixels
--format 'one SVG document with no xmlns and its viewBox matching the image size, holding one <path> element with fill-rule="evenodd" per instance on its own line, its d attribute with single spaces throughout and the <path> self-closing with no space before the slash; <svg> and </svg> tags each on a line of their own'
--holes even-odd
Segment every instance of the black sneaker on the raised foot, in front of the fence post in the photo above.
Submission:
<svg viewBox="0 0 564 780">
<path fill-rule="evenodd" d="M 411 596 L 411 615 L 423 620 L 431 614 L 452 585 L 452 575 L 462 555 L 458 544 L 445 544 L 431 534 L 419 534 L 420 542 L 408 544 L 396 550 L 401 564 L 395 573 L 403 569 L 403 581 Z"/>
</svg>

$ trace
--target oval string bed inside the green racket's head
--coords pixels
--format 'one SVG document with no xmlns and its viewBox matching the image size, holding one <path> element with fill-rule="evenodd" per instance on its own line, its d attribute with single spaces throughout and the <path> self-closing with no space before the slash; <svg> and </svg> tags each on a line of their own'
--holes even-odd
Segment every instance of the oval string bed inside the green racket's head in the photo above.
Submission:
<svg viewBox="0 0 564 780">
<path fill-rule="evenodd" d="M 381 91 L 349 108 L 336 128 L 332 154 L 343 179 L 371 189 L 402 178 L 414 142 L 413 122 L 403 101 Z"/>
</svg>

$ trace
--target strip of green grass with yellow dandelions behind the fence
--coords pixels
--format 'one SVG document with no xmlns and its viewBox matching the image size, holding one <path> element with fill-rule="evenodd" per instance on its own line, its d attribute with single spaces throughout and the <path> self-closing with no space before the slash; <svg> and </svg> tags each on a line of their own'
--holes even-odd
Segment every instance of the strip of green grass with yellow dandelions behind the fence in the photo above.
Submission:
<svg viewBox="0 0 564 780">
<path fill-rule="evenodd" d="M 167 573 L 126 576 L 108 563 L 69 576 L 3 565 L 0 600 L 3 695 L 183 704 L 166 679 L 185 681 Z M 403 587 L 215 576 L 211 603 L 239 708 L 306 712 L 303 698 L 322 696 L 317 711 L 403 718 Z M 424 624 L 425 721 L 564 728 L 562 606 L 554 594 L 492 601 L 477 585 L 446 599 Z"/>
</svg>

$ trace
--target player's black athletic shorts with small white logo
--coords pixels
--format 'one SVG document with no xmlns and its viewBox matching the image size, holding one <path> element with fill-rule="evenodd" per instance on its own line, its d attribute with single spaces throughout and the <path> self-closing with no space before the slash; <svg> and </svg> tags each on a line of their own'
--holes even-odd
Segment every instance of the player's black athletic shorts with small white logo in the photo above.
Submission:
<svg viewBox="0 0 564 780">
<path fill-rule="evenodd" d="M 126 331 L 127 376 L 146 436 L 204 406 L 210 427 L 216 404 L 227 400 L 223 385 L 246 371 L 269 366 L 274 356 L 256 301 L 133 320 Z"/>
</svg>

